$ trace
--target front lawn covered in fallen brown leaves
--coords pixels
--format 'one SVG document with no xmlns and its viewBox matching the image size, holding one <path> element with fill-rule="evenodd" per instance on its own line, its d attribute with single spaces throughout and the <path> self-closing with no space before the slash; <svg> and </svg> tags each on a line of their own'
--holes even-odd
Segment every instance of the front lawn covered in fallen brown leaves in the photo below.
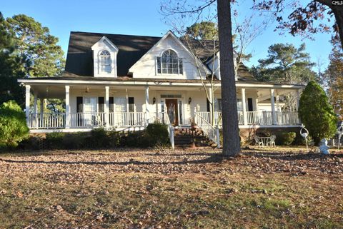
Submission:
<svg viewBox="0 0 343 229">
<path fill-rule="evenodd" d="M 343 153 L 0 154 L 0 228 L 343 228 Z"/>
</svg>

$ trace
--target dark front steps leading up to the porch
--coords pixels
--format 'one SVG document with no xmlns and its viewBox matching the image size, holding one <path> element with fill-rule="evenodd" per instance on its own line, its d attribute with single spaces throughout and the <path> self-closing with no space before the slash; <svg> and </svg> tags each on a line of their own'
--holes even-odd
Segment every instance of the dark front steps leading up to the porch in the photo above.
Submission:
<svg viewBox="0 0 343 229">
<path fill-rule="evenodd" d="M 212 146 L 212 141 L 204 135 L 201 128 L 177 128 L 174 130 L 174 144 L 177 148 Z M 212 146 L 213 147 L 213 146 Z"/>
</svg>

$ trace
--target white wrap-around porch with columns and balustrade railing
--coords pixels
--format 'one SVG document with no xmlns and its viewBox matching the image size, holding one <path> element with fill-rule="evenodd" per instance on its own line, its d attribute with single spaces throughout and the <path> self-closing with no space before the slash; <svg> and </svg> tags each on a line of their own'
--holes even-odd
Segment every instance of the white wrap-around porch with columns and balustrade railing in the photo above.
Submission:
<svg viewBox="0 0 343 229">
<path fill-rule="evenodd" d="M 144 128 L 154 121 L 190 126 L 192 118 L 198 126 L 222 126 L 220 88 L 209 93 L 214 96 L 212 111 L 202 85 L 26 83 L 25 86 L 26 118 L 31 132 L 87 131 L 95 127 Z M 286 93 L 298 96 L 292 111 L 286 111 L 279 100 Z M 30 104 L 31 94 L 34 95 L 33 104 Z M 64 100 L 65 111 L 44 112 L 45 98 Z M 298 106 L 299 88 L 237 85 L 240 128 L 299 126 Z"/>
</svg>

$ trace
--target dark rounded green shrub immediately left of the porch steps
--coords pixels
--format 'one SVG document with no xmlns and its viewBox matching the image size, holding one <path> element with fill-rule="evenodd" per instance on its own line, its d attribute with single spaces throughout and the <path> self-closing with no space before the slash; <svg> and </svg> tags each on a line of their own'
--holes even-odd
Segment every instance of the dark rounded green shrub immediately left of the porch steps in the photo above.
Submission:
<svg viewBox="0 0 343 229">
<path fill-rule="evenodd" d="M 163 123 L 150 123 L 146 127 L 146 138 L 149 146 L 169 144 L 168 126 Z"/>
</svg>

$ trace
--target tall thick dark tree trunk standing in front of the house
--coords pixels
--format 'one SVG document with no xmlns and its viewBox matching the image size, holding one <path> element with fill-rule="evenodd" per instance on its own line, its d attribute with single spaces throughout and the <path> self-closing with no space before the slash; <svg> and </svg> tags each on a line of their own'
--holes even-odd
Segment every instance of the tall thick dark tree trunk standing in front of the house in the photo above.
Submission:
<svg viewBox="0 0 343 229">
<path fill-rule="evenodd" d="M 231 6 L 229 0 L 217 0 L 220 76 L 222 78 L 223 154 L 237 156 L 241 152 L 237 115 L 234 50 L 232 48 Z"/>
</svg>

